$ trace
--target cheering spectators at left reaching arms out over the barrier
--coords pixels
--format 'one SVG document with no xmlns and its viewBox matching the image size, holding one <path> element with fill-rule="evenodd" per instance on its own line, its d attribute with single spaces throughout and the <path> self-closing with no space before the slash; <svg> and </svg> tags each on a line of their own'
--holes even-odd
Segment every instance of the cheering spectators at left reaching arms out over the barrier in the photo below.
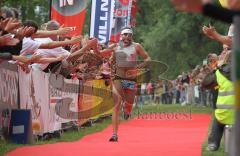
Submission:
<svg viewBox="0 0 240 156">
<path fill-rule="evenodd" d="M 115 44 L 106 48 L 88 36 L 66 37 L 74 29 L 54 20 L 40 28 L 35 21 L 21 23 L 17 10 L 7 7 L 1 10 L 0 29 L 0 59 L 14 60 L 10 62 L 26 73 L 30 69 L 58 71 L 66 78 L 79 79 L 100 79 L 110 74 L 108 60 Z"/>
</svg>

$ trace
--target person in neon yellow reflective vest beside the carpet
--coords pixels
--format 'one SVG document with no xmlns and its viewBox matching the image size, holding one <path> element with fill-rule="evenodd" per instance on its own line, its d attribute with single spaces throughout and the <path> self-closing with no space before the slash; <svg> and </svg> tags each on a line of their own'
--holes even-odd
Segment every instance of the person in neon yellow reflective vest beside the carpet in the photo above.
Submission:
<svg viewBox="0 0 240 156">
<path fill-rule="evenodd" d="M 211 134 L 208 138 L 208 149 L 218 150 L 223 136 L 225 125 L 234 123 L 234 99 L 233 83 L 231 80 L 230 64 L 221 66 L 215 73 L 211 72 L 204 79 L 204 88 L 215 88 L 219 86 L 217 97 L 217 109 L 215 110 Z M 231 108 L 232 107 L 232 108 Z"/>
</svg>

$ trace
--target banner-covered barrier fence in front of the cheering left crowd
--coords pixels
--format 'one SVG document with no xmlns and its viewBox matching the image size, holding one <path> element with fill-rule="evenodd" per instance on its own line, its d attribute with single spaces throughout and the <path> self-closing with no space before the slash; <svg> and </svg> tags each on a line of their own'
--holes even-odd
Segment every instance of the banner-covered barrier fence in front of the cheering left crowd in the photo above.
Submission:
<svg viewBox="0 0 240 156">
<path fill-rule="evenodd" d="M 112 113 L 111 86 L 105 80 L 65 79 L 34 69 L 26 74 L 17 65 L 4 62 L 0 64 L 0 84 L 1 114 L 30 109 L 34 135 L 62 130 L 66 123 L 81 126 Z M 8 126 L 2 122 L 4 115 L 0 118 L 0 129 Z"/>
</svg>

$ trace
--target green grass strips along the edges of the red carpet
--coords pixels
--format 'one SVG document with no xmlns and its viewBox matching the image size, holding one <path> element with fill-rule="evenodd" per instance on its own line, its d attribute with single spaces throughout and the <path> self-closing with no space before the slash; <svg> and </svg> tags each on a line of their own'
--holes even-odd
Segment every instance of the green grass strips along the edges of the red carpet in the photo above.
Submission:
<svg viewBox="0 0 240 156">
<path fill-rule="evenodd" d="M 133 117 L 136 117 L 138 114 L 145 114 L 145 113 L 189 113 L 192 114 L 198 113 L 198 114 L 211 114 L 212 109 L 209 107 L 202 107 L 202 106 L 196 106 L 196 105 L 187 105 L 187 106 L 181 106 L 181 105 L 144 105 L 142 109 L 134 109 L 133 111 Z M 95 123 L 92 127 L 85 127 L 80 128 L 79 130 L 71 130 L 66 131 L 62 134 L 60 138 L 54 138 L 49 141 L 37 141 L 35 145 L 40 144 L 52 144 L 57 142 L 72 142 L 77 141 L 81 139 L 82 137 L 96 133 L 99 131 L 102 131 L 105 129 L 108 125 L 111 124 L 111 118 L 103 119 L 99 123 Z M 209 127 L 210 132 L 211 126 Z M 24 145 L 17 145 L 12 144 L 6 141 L 0 141 L 0 155 L 4 155 L 5 153 L 14 150 L 17 147 L 22 147 Z M 210 152 L 206 150 L 207 147 L 207 138 L 202 146 L 202 156 L 224 156 L 224 146 L 221 145 L 220 149 L 215 152 Z"/>
</svg>

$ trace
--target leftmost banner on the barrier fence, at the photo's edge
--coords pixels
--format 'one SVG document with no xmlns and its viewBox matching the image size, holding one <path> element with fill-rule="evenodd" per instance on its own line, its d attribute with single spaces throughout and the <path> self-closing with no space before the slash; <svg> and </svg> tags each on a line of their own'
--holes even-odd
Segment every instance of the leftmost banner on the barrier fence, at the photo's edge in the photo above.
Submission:
<svg viewBox="0 0 240 156">
<path fill-rule="evenodd" d="M 18 68 L 15 64 L 0 64 L 0 109 L 18 108 Z"/>
</svg>

